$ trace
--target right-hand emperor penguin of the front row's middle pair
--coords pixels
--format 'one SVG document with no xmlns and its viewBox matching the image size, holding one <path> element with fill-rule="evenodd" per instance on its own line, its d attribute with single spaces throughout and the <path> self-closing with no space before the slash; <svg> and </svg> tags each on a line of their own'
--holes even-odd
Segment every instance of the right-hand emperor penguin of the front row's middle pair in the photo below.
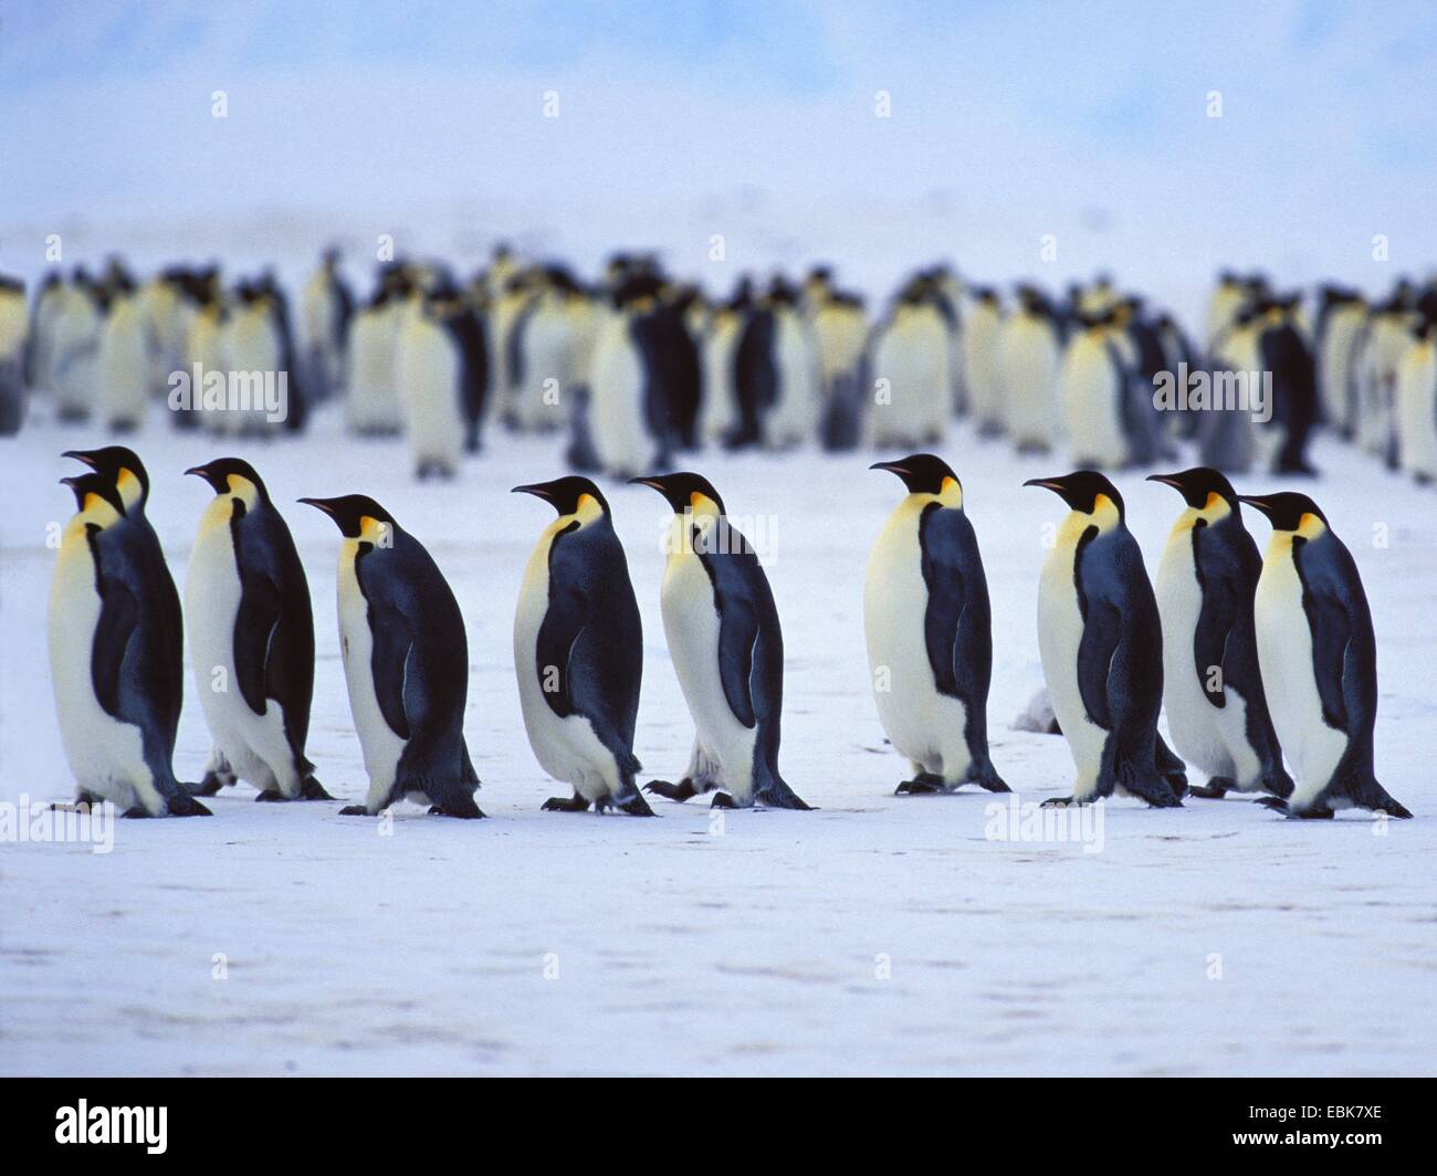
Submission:
<svg viewBox="0 0 1437 1176">
<path fill-rule="evenodd" d="M 687 801 L 723 788 L 714 808 L 809 807 L 779 773 L 783 633 L 769 578 L 706 477 L 634 479 L 673 507 L 660 607 L 664 635 L 694 719 L 690 773 L 648 792 Z"/>
</svg>

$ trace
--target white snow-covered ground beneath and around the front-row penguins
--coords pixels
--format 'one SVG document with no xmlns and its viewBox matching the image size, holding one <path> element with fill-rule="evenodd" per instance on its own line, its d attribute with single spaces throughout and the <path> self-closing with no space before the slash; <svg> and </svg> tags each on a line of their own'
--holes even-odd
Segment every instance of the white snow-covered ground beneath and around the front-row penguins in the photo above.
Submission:
<svg viewBox="0 0 1437 1176">
<path fill-rule="evenodd" d="M 66 796 L 45 617 L 69 515 L 59 451 L 95 430 L 33 423 L 0 443 L 0 799 Z M 868 454 L 710 456 L 736 516 L 763 516 L 785 624 L 783 765 L 821 811 L 660 819 L 540 812 L 565 789 L 520 722 L 510 624 L 547 509 L 509 487 L 559 472 L 558 444 L 494 433 L 453 486 L 408 479 L 401 443 L 352 444 L 325 413 L 303 443 L 135 443 L 182 584 L 210 490 L 180 472 L 251 459 L 280 503 L 362 490 L 434 553 L 468 625 L 467 735 L 493 818 L 408 808 L 381 837 L 338 805 L 119 822 L 114 851 L 0 845 L 0 1070 L 22 1074 L 1375 1074 L 1437 1072 L 1437 495 L 1331 444 L 1313 490 L 1357 555 L 1377 618 L 1378 775 L 1415 814 L 1285 822 L 1244 801 L 1106 805 L 1102 848 L 984 837 L 986 794 L 894 798 L 864 653 L 869 545 L 900 495 Z M 1025 799 L 1066 792 L 1062 739 L 1009 729 L 1040 684 L 1042 525 L 1061 503 L 1017 459 L 957 433 L 993 592 L 993 758 Z M 1150 571 L 1178 500 L 1119 479 Z M 1263 489 L 1266 479 L 1243 487 Z M 658 618 L 664 506 L 609 490 L 644 608 L 638 755 L 688 755 Z M 365 791 L 338 660 L 338 533 L 289 506 L 319 640 L 310 758 Z M 1260 543 L 1266 526 L 1252 520 Z M 1388 543 L 1374 545 L 1385 526 Z M 187 651 L 188 653 L 188 651 Z M 188 674 L 188 670 L 187 670 Z M 193 683 L 177 769 L 210 742 Z M 1276 684 L 1280 689 L 1280 684 Z M 1196 773 L 1194 773 L 1196 775 Z M 214 957 L 227 979 L 214 979 Z M 555 976 L 555 970 L 558 975 Z M 1216 978 L 1219 976 L 1220 978 Z"/>
</svg>

